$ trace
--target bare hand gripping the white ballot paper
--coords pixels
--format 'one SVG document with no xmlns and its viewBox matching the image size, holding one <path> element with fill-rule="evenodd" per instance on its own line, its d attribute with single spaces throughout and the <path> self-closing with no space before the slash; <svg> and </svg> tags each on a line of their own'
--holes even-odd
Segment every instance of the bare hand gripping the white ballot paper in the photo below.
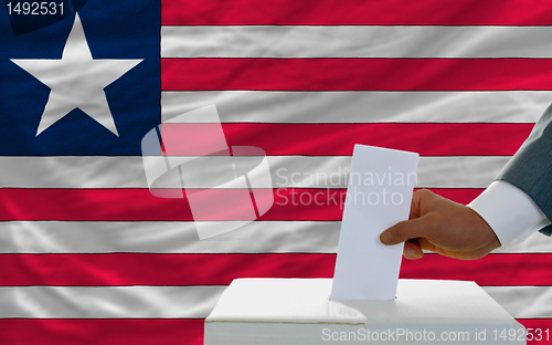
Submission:
<svg viewBox="0 0 552 345">
<path fill-rule="evenodd" d="M 383 244 L 404 243 L 406 259 L 420 259 L 424 250 L 445 257 L 471 260 L 500 247 L 489 224 L 469 207 L 422 189 L 412 197 L 408 220 L 380 236 Z"/>
</svg>

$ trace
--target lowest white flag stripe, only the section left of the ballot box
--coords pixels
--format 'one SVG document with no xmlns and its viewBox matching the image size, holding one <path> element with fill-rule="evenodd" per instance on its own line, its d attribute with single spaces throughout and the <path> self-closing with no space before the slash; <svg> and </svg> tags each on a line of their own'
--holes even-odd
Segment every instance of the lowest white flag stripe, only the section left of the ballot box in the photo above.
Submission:
<svg viewBox="0 0 552 345">
<path fill-rule="evenodd" d="M 206 317 L 225 286 L 0 288 L 0 318 Z"/>
</svg>

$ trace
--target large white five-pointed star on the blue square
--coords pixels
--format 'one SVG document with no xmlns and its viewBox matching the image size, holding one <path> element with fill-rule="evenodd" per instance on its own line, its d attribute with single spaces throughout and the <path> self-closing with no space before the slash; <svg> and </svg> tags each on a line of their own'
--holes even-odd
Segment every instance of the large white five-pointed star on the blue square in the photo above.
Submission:
<svg viewBox="0 0 552 345">
<path fill-rule="evenodd" d="M 36 136 L 77 107 L 118 136 L 104 87 L 139 64 L 142 59 L 94 60 L 81 19 L 76 14 L 61 60 L 11 61 L 51 88 Z"/>
</svg>

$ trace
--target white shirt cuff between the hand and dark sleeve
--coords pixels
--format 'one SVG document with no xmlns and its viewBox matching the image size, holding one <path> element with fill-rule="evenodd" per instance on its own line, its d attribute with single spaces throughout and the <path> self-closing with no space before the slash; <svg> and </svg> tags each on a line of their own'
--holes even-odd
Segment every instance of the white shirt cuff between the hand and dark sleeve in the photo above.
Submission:
<svg viewBox="0 0 552 345">
<path fill-rule="evenodd" d="M 509 249 L 550 224 L 534 201 L 518 187 L 493 181 L 468 207 L 492 228 L 500 249 Z"/>
</svg>

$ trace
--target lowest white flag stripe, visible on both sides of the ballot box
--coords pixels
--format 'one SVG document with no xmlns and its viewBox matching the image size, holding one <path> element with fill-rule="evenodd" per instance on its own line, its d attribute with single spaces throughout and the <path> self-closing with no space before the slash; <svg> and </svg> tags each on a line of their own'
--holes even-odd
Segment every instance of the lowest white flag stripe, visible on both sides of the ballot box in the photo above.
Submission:
<svg viewBox="0 0 552 345">
<path fill-rule="evenodd" d="M 203 318 L 226 286 L 0 288 L 0 318 Z M 550 286 L 484 286 L 513 317 L 551 317 Z"/>
</svg>

